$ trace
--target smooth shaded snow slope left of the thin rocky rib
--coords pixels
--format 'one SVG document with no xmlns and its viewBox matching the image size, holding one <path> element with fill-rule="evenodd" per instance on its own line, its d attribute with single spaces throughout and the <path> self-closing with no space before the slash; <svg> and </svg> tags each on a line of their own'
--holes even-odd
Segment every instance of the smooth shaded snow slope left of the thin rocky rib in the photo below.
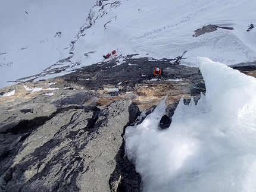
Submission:
<svg viewBox="0 0 256 192">
<path fill-rule="evenodd" d="M 70 42 L 95 4 L 96 0 L 0 1 L 0 87 L 70 56 Z"/>
</svg>

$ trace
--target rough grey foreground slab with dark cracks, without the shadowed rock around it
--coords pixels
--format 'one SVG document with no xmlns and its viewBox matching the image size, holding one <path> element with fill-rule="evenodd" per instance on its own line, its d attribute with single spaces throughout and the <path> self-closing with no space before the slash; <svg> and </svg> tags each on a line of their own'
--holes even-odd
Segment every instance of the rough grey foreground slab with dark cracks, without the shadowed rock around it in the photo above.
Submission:
<svg viewBox="0 0 256 192">
<path fill-rule="evenodd" d="M 26 192 L 117 190 L 118 183 L 126 177 L 124 171 L 117 169 L 124 156 L 124 152 L 120 152 L 122 135 L 126 125 L 135 121 L 137 113 L 131 100 L 117 100 L 101 111 L 95 108 L 94 111 L 58 112 L 24 141 L 19 142 L 20 136 L 13 138 L 13 153 L 5 158 L 8 161 L 0 163 L 4 168 L 1 169 L 0 189 Z M 120 180 L 111 190 L 113 173 L 119 174 Z M 112 177 L 112 184 L 114 180 Z M 126 188 L 129 187 L 126 185 Z"/>
</svg>

